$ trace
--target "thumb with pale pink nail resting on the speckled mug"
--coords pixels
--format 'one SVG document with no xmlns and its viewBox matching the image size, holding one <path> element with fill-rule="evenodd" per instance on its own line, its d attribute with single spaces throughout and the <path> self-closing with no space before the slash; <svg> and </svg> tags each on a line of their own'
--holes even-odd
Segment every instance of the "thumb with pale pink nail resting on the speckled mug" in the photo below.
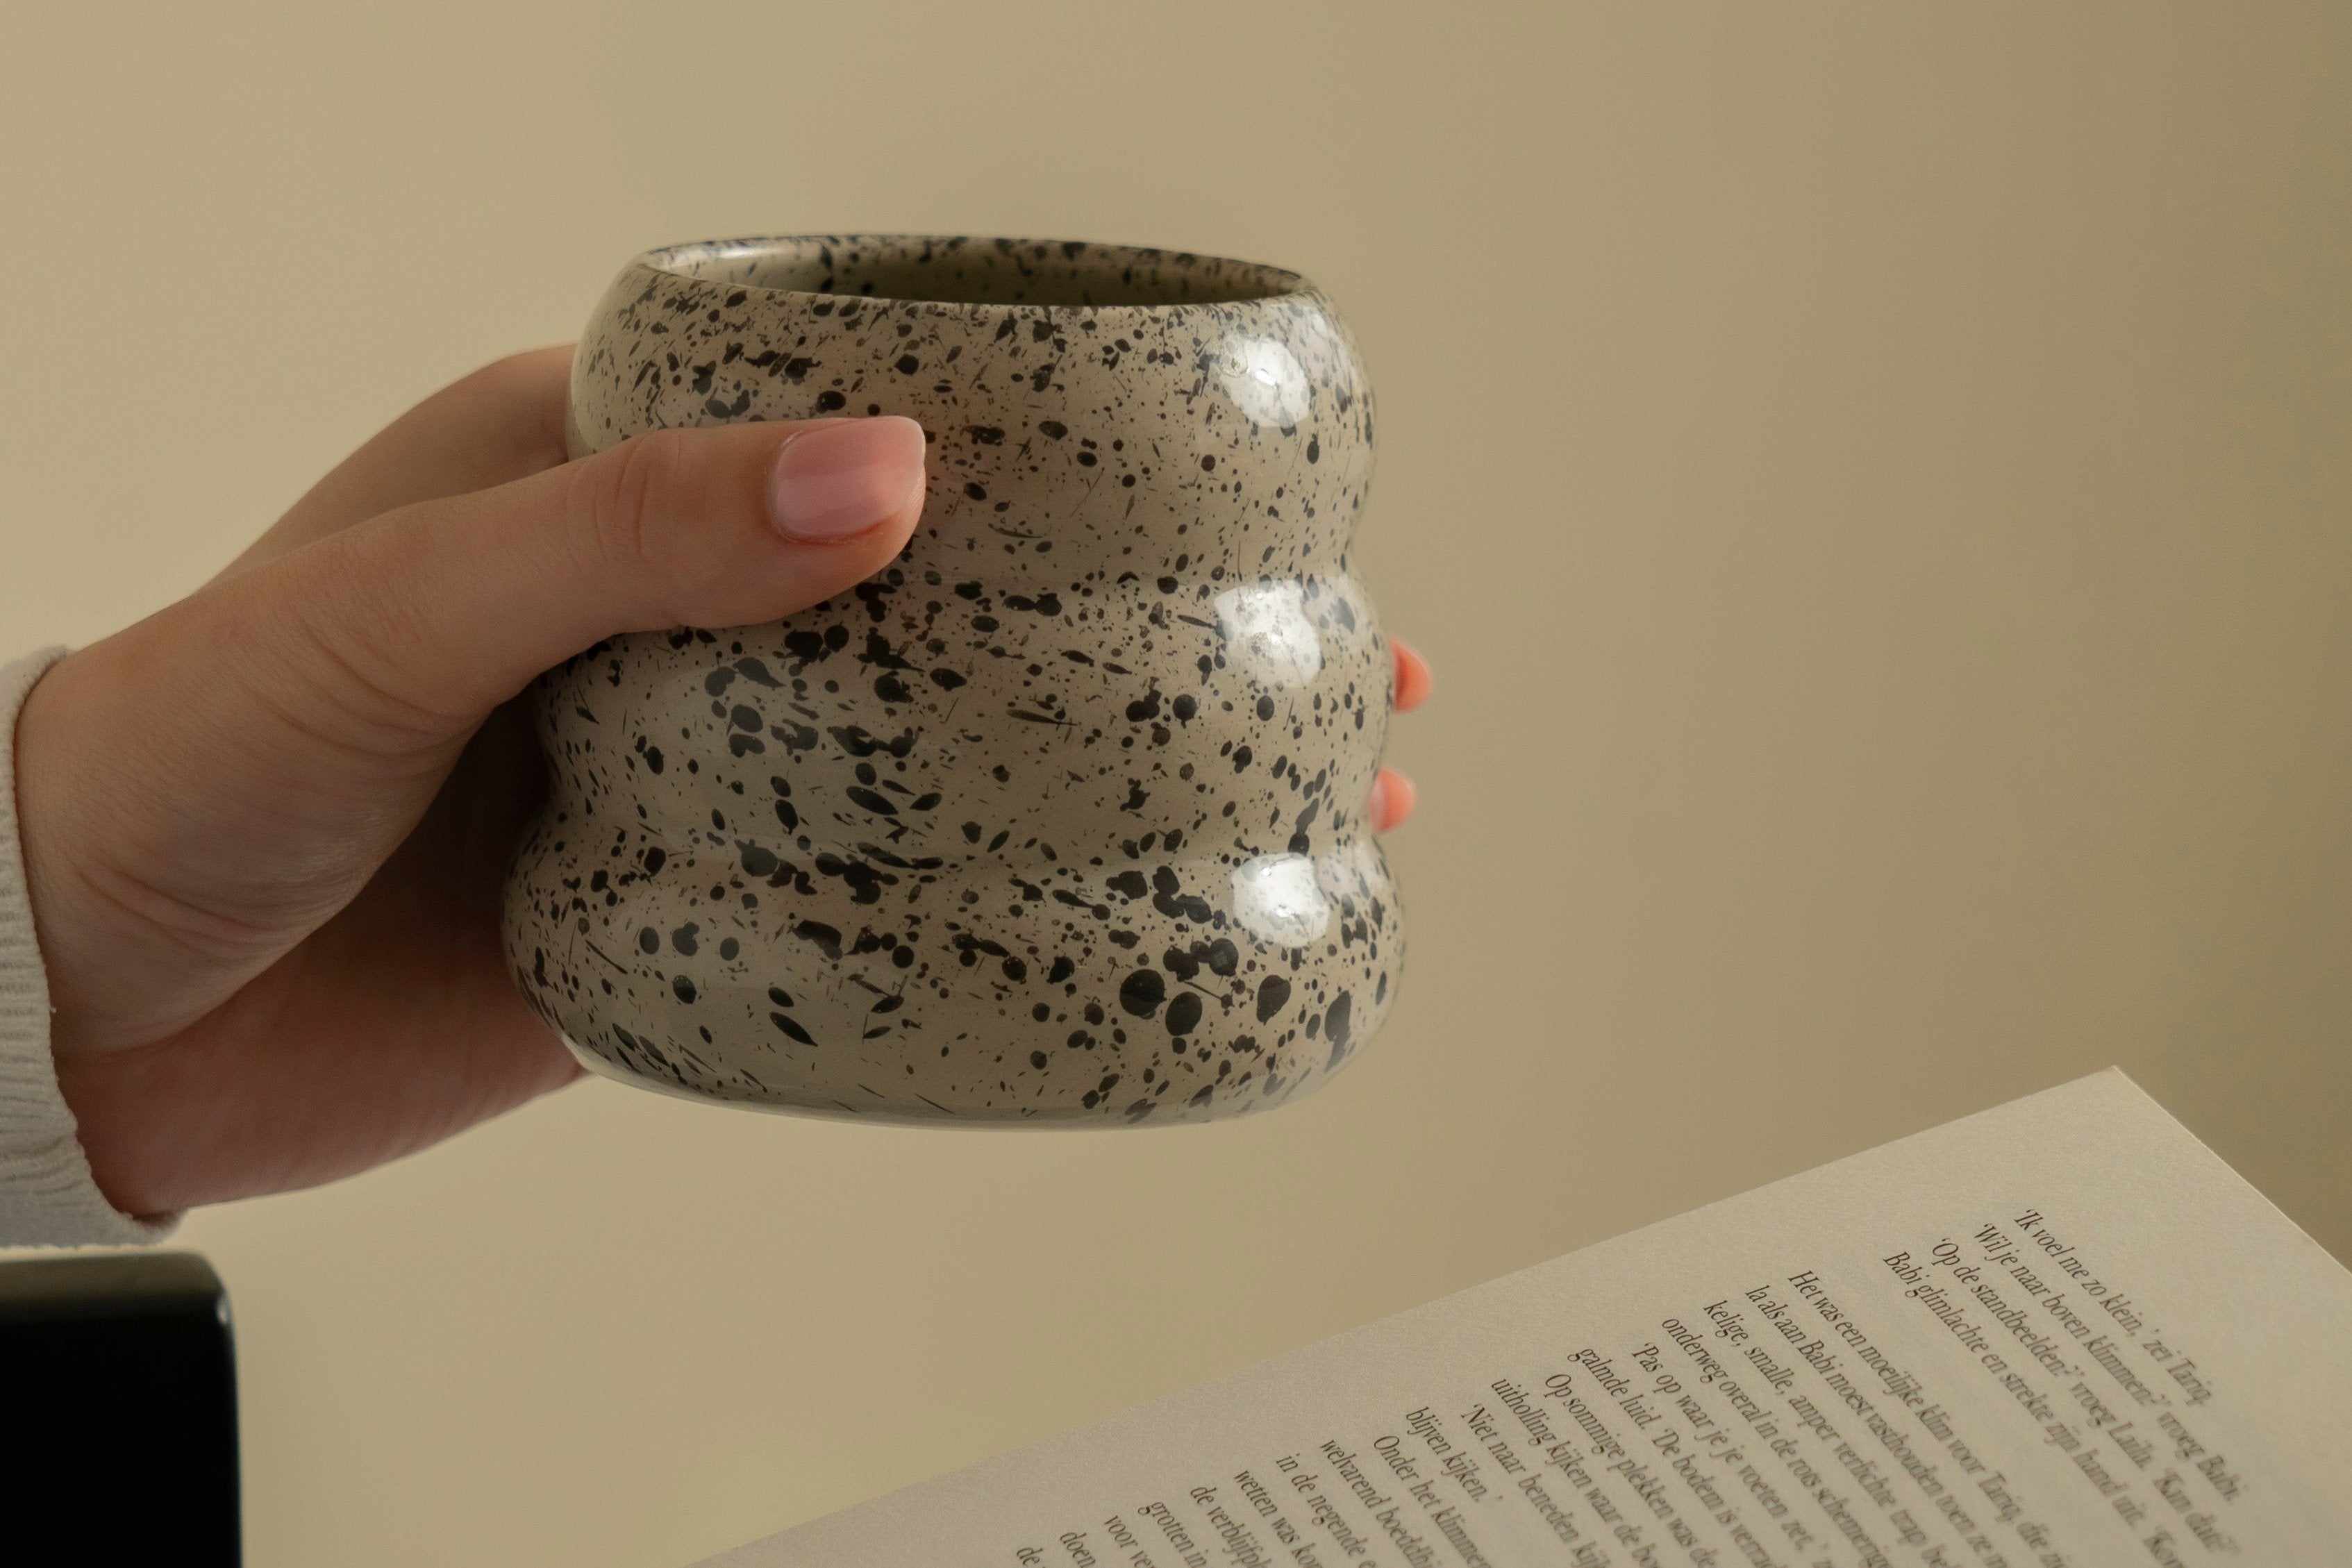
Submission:
<svg viewBox="0 0 2352 1568">
<path fill-rule="evenodd" d="M 600 637 L 750 625 L 873 576 L 922 515 L 910 418 L 654 430 L 280 562 L 266 701 L 367 750 L 470 731 Z"/>
</svg>

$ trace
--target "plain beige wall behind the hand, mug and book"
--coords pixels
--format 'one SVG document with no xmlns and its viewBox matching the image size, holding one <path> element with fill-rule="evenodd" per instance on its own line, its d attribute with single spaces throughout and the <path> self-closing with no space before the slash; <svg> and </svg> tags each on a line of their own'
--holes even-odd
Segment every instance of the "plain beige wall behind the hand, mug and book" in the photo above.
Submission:
<svg viewBox="0 0 2352 1568">
<path fill-rule="evenodd" d="M 1305 270 L 1439 668 L 1319 1098 L 590 1084 L 195 1215 L 252 1563 L 687 1563 L 2126 1065 L 2352 1253 L 2352 9 L 207 5 L 0 28 L 0 642 L 186 592 L 630 254 Z"/>
</svg>

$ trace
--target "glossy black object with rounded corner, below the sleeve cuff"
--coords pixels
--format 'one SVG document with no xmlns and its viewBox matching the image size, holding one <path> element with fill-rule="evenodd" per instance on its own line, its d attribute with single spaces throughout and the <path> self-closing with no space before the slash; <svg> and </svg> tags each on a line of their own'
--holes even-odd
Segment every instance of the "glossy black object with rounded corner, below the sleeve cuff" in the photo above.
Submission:
<svg viewBox="0 0 2352 1568">
<path fill-rule="evenodd" d="M 242 1559 L 228 1291 L 200 1255 L 0 1262 L 0 1556 Z"/>
</svg>

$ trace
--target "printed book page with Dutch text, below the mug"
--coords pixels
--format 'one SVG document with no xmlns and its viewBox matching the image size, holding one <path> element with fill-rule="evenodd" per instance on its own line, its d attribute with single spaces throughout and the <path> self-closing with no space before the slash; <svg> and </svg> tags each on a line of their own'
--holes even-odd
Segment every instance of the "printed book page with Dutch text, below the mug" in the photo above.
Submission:
<svg viewBox="0 0 2352 1568">
<path fill-rule="evenodd" d="M 2352 1563 L 2352 1274 L 2122 1072 L 706 1568 Z"/>
</svg>

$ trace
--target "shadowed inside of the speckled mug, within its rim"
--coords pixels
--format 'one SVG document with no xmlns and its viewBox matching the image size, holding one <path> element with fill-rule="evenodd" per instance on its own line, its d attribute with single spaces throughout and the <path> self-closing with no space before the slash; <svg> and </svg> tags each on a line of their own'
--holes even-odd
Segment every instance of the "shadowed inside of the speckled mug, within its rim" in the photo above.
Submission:
<svg viewBox="0 0 2352 1568">
<path fill-rule="evenodd" d="M 1305 289 L 1254 261 L 1087 240 L 774 235 L 673 244 L 644 261 L 753 289 L 950 306 L 1214 306 Z"/>
</svg>

